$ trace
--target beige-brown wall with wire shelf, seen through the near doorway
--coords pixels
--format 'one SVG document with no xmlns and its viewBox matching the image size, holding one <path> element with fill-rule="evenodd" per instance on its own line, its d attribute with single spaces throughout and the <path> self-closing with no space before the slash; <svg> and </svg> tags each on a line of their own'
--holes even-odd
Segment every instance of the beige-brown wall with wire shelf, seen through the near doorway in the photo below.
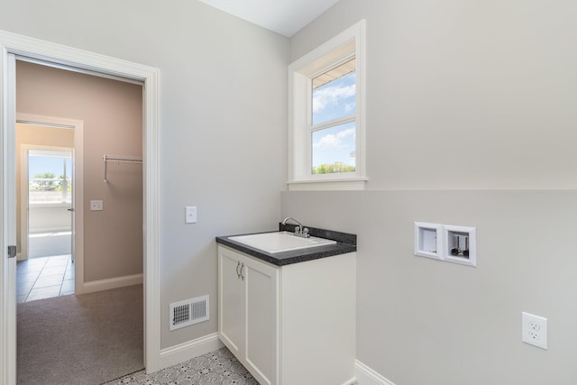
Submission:
<svg viewBox="0 0 577 385">
<path fill-rule="evenodd" d="M 109 164 L 105 183 L 102 160 L 142 156 L 142 86 L 18 61 L 16 87 L 18 113 L 84 122 L 85 281 L 142 273 L 142 166 Z"/>
</svg>

